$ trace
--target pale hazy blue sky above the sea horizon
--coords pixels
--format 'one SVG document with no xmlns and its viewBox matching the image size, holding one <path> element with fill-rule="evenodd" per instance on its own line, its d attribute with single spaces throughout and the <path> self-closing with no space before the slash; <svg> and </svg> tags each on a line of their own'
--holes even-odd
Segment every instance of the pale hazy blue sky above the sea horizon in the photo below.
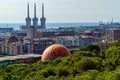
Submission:
<svg viewBox="0 0 120 80">
<path fill-rule="evenodd" d="M 0 23 L 25 23 L 27 3 L 33 18 L 34 2 L 37 17 L 45 4 L 47 22 L 120 22 L 120 0 L 0 0 Z"/>
</svg>

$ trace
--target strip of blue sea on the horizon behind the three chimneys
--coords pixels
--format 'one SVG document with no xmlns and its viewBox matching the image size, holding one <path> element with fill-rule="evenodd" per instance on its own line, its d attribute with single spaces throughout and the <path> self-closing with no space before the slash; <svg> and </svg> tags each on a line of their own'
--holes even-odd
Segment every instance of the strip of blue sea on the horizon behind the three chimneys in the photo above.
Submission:
<svg viewBox="0 0 120 80">
<path fill-rule="evenodd" d="M 0 23 L 0 28 L 14 28 L 14 30 L 19 30 L 20 26 L 25 25 L 25 23 Z M 46 28 L 60 28 L 60 27 L 90 27 L 98 26 L 99 23 L 46 23 Z"/>
</svg>

